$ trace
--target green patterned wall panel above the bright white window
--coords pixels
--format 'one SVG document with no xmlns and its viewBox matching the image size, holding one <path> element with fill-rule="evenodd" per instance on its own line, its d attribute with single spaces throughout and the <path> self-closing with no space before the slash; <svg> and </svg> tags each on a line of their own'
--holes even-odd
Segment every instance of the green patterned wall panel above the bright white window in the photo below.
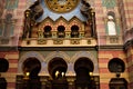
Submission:
<svg viewBox="0 0 133 89">
<path fill-rule="evenodd" d="M 116 6 L 116 0 L 102 0 L 102 6 L 106 8 L 114 8 Z"/>
</svg>

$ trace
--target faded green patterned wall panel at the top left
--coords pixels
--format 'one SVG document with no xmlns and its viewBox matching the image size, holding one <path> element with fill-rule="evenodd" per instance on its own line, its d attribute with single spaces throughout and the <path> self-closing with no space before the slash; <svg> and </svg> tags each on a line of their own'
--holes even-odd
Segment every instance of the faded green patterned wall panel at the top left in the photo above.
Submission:
<svg viewBox="0 0 133 89">
<path fill-rule="evenodd" d="M 6 9 L 16 9 L 18 8 L 19 0 L 6 0 Z"/>
</svg>

